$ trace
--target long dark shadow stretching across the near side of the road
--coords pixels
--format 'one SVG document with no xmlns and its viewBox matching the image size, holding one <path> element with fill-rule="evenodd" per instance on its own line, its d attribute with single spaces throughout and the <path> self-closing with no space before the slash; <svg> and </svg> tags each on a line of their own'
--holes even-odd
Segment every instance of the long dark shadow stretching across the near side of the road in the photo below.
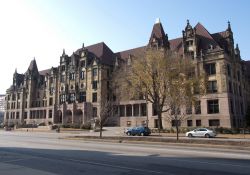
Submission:
<svg viewBox="0 0 250 175">
<path fill-rule="evenodd" d="M 250 174 L 250 161 L 159 154 L 109 153 L 87 150 L 0 148 L 0 174 L 22 169 L 61 175 L 233 175 Z M 12 168 L 6 168 L 11 165 Z M 13 169 L 15 167 L 15 169 Z M 42 174 L 43 174 L 42 173 Z"/>
</svg>

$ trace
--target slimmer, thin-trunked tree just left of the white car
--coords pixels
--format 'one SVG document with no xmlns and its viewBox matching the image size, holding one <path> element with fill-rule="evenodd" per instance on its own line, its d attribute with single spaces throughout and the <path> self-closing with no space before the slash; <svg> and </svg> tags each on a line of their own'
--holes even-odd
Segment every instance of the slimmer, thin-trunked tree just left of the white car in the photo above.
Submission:
<svg viewBox="0 0 250 175">
<path fill-rule="evenodd" d="M 190 117 L 192 104 L 206 93 L 206 76 L 199 71 L 191 59 L 175 58 L 169 73 L 168 97 L 165 105 L 170 107 L 166 120 L 176 128 L 179 140 L 179 126 Z"/>
</svg>

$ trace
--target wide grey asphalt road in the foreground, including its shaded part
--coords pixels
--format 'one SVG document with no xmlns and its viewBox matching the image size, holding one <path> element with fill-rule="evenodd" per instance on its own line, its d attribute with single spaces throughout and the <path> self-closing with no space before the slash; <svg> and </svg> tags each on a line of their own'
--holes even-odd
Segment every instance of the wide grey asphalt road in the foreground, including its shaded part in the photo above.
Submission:
<svg viewBox="0 0 250 175">
<path fill-rule="evenodd" d="M 250 174 L 247 150 L 59 139 L 68 135 L 0 131 L 0 174 Z"/>
</svg>

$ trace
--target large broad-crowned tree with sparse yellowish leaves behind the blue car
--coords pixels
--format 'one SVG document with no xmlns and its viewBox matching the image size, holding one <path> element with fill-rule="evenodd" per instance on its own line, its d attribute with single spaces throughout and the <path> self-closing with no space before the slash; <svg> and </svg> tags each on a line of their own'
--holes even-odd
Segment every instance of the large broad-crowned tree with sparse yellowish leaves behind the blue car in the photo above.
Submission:
<svg viewBox="0 0 250 175">
<path fill-rule="evenodd" d="M 118 69 L 119 73 L 116 73 L 116 76 L 120 81 L 119 91 L 123 93 L 120 95 L 128 98 L 144 96 L 153 104 L 158 116 L 158 129 L 161 130 L 163 128 L 162 114 L 170 110 L 172 101 L 176 101 L 173 96 L 177 97 L 185 90 L 180 88 L 176 91 L 176 88 L 185 85 L 185 88 L 191 89 L 191 85 L 194 86 L 196 83 L 194 78 L 192 81 L 190 78 L 185 79 L 186 73 L 191 74 L 192 72 L 188 71 L 194 70 L 194 65 L 188 60 L 169 50 L 147 49 L 142 55 L 132 57 L 127 64 L 123 64 Z M 199 79 L 197 76 L 195 78 L 196 81 Z M 183 95 L 184 92 L 181 94 Z M 188 94 L 185 98 L 190 96 Z"/>
</svg>

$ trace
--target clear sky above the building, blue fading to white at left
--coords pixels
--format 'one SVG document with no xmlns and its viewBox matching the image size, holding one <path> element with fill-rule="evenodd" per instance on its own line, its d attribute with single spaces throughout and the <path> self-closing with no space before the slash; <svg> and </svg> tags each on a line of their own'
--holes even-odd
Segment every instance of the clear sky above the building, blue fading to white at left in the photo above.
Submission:
<svg viewBox="0 0 250 175">
<path fill-rule="evenodd" d="M 181 37 L 187 19 L 210 33 L 229 20 L 242 58 L 250 60 L 249 9 L 248 0 L 0 0 L 0 93 L 34 57 L 43 70 L 59 65 L 63 48 L 70 55 L 82 43 L 104 41 L 114 52 L 143 46 L 156 18 L 169 39 Z"/>
</svg>

